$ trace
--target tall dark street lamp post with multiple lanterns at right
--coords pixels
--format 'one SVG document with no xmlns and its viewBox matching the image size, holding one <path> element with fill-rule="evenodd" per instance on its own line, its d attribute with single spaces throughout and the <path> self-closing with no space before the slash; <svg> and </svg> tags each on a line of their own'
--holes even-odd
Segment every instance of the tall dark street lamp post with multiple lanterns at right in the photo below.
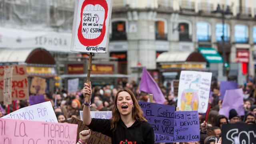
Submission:
<svg viewBox="0 0 256 144">
<path fill-rule="evenodd" d="M 214 13 L 220 13 L 222 17 L 222 57 L 223 57 L 223 75 L 226 76 L 226 48 L 225 48 L 225 15 L 232 15 L 232 12 L 230 11 L 230 7 L 227 6 L 226 10 L 222 10 L 220 8 L 220 4 L 218 4 L 217 9 L 214 11 Z"/>
</svg>

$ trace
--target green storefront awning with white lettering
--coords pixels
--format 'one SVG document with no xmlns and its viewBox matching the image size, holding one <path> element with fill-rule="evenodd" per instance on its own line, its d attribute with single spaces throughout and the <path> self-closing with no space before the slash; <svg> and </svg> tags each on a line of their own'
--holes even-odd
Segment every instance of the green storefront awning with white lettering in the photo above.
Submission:
<svg viewBox="0 0 256 144">
<path fill-rule="evenodd" d="M 222 56 L 214 48 L 198 48 L 208 63 L 222 63 Z"/>
</svg>

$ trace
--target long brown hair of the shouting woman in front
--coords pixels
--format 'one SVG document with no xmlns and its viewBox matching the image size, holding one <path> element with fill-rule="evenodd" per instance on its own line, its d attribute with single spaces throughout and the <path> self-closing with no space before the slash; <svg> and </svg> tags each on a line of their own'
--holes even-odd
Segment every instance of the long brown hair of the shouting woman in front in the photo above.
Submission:
<svg viewBox="0 0 256 144">
<path fill-rule="evenodd" d="M 134 108 L 132 109 L 132 118 L 134 118 L 135 120 L 138 120 L 140 122 L 141 121 L 147 122 L 147 120 L 144 118 L 144 114 L 143 114 L 142 110 L 140 109 L 138 101 L 136 100 L 132 91 L 129 89 L 119 90 L 116 94 L 116 98 L 114 100 L 114 106 L 112 109 L 111 130 L 116 130 L 117 123 L 121 119 L 120 112 L 116 110 L 117 109 L 116 102 L 117 102 L 118 94 L 120 92 L 128 92 L 128 94 L 130 94 L 130 96 L 132 97 L 132 102 L 134 105 Z"/>
</svg>

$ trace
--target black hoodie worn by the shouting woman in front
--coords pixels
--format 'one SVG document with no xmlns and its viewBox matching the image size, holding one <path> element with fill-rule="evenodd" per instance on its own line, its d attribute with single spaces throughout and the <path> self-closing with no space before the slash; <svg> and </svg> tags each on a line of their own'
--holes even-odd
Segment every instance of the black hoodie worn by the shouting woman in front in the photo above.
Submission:
<svg viewBox="0 0 256 144">
<path fill-rule="evenodd" d="M 92 118 L 88 126 L 92 131 L 111 137 L 112 144 L 154 144 L 154 131 L 148 122 L 135 121 L 129 128 L 124 122 L 118 122 L 115 131 L 110 130 L 111 120 Z M 127 142 L 127 143 L 126 143 Z"/>
</svg>

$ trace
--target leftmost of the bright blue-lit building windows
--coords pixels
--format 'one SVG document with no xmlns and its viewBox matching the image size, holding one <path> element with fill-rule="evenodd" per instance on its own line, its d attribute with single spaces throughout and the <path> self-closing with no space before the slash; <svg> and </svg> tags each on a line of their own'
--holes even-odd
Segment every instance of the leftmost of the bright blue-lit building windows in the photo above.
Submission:
<svg viewBox="0 0 256 144">
<path fill-rule="evenodd" d="M 210 24 L 207 22 L 198 22 L 196 24 L 196 36 L 198 42 L 210 42 Z"/>
</svg>

